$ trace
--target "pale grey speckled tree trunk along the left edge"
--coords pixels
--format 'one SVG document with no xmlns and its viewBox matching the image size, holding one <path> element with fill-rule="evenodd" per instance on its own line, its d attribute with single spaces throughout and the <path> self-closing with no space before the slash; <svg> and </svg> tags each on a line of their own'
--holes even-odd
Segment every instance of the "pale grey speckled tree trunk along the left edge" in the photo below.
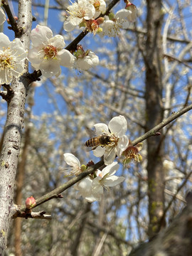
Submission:
<svg viewBox="0 0 192 256">
<path fill-rule="evenodd" d="M 21 41 L 26 50 L 28 50 L 29 46 L 31 22 L 31 0 L 20 0 L 18 26 L 23 28 Z M 14 96 L 8 103 L 4 142 L 0 156 L 0 255 L 4 255 L 6 249 L 7 233 L 12 216 L 14 183 L 21 146 L 21 129 L 23 128 L 26 88 L 28 84 L 29 80 L 25 76 L 17 80 L 14 79 L 11 83 Z"/>
</svg>

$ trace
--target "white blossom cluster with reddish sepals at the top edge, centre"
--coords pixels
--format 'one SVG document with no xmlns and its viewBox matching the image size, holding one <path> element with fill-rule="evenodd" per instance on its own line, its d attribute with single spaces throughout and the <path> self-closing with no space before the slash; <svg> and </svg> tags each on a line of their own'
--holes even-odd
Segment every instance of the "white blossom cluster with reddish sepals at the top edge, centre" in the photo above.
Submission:
<svg viewBox="0 0 192 256">
<path fill-rule="evenodd" d="M 129 22 L 135 21 L 137 9 L 129 0 L 125 0 L 124 9 L 117 11 L 116 14 L 110 13 L 109 16 L 100 17 L 105 14 L 106 4 L 104 0 L 78 0 L 68 6 L 69 16 L 64 22 L 65 31 L 73 31 L 76 26 L 85 27 L 94 35 L 99 33 L 101 36 L 117 36 L 120 28 L 128 28 Z M 101 25 L 101 26 L 100 26 Z"/>
</svg>

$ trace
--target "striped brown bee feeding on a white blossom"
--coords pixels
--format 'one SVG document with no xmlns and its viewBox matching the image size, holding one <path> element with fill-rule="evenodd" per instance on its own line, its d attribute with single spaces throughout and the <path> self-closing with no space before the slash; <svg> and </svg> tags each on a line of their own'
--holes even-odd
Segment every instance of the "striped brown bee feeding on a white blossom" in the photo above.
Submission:
<svg viewBox="0 0 192 256">
<path fill-rule="evenodd" d="M 96 149 L 97 146 L 107 146 L 109 144 L 112 144 L 114 142 L 114 139 L 107 135 L 102 134 L 98 137 L 94 137 L 92 139 L 88 139 L 87 142 L 85 142 L 85 146 L 92 146 L 92 150 Z"/>
</svg>

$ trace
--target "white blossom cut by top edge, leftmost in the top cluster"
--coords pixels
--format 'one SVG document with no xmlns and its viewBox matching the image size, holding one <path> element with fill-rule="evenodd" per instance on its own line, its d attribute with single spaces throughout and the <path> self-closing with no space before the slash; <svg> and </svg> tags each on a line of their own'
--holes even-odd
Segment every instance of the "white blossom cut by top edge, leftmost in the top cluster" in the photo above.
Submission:
<svg viewBox="0 0 192 256">
<path fill-rule="evenodd" d="M 64 22 L 63 28 L 68 32 L 73 31 L 82 21 L 95 16 L 95 7 L 88 0 L 78 0 L 78 3 L 68 6 L 67 11 L 70 16 Z"/>
</svg>

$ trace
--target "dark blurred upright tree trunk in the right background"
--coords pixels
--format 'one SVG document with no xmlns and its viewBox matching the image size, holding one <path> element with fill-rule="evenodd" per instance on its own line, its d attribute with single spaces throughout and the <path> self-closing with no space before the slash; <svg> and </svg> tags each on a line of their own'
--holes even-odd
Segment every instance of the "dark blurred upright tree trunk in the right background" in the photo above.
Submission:
<svg viewBox="0 0 192 256">
<path fill-rule="evenodd" d="M 162 108 L 162 42 L 161 1 L 147 1 L 146 33 L 146 132 L 163 119 Z M 149 238 L 159 232 L 159 220 L 164 213 L 163 143 L 161 136 L 147 139 L 149 186 Z M 164 222 L 162 222 L 164 223 Z"/>
</svg>

